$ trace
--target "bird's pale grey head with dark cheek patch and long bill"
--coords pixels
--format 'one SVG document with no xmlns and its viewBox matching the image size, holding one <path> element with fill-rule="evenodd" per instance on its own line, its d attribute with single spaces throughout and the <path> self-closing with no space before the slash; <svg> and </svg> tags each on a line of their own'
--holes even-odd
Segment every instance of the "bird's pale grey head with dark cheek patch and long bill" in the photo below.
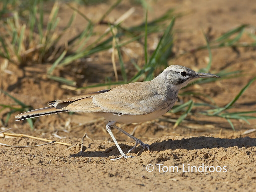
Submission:
<svg viewBox="0 0 256 192">
<path fill-rule="evenodd" d="M 161 75 L 165 76 L 168 83 L 172 84 L 173 86 L 179 89 L 185 87 L 189 82 L 191 82 L 195 78 L 220 78 L 220 76 L 210 73 L 197 73 L 192 69 L 189 69 L 188 67 L 184 67 L 181 65 L 170 65 L 161 73 Z"/>
</svg>

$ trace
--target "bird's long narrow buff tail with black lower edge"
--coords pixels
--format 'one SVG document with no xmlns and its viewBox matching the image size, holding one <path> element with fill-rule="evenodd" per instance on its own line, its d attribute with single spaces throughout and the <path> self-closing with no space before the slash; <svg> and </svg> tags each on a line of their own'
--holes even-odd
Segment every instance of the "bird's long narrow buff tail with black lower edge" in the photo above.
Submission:
<svg viewBox="0 0 256 192">
<path fill-rule="evenodd" d="M 35 110 L 27 111 L 25 113 L 16 115 L 15 118 L 18 118 L 18 119 L 16 119 L 15 121 L 20 121 L 20 120 L 28 119 L 28 118 L 32 118 L 32 117 L 39 117 L 39 116 L 43 116 L 43 115 L 62 113 L 62 112 L 67 112 L 67 111 L 68 110 L 56 109 L 55 107 L 44 107 L 44 108 L 35 109 Z"/>
</svg>

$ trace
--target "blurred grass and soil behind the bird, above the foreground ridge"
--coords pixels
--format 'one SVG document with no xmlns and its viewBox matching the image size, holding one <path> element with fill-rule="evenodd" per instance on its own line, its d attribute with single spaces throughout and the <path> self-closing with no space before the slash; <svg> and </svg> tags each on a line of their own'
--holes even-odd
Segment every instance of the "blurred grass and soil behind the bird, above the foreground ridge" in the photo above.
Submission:
<svg viewBox="0 0 256 192">
<path fill-rule="evenodd" d="M 118 126 L 141 140 L 255 137 L 255 16 L 249 0 L 2 0 L 1 130 L 110 140 L 105 120 L 90 114 L 14 116 L 51 100 L 149 81 L 178 64 L 222 78 L 188 85 L 163 117 Z"/>
</svg>

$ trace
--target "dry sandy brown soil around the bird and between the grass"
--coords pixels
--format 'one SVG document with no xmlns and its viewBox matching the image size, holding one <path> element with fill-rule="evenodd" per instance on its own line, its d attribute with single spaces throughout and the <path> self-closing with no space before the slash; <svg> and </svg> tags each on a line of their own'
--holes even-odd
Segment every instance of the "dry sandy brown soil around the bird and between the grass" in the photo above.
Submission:
<svg viewBox="0 0 256 192">
<path fill-rule="evenodd" d="M 81 6 L 80 9 L 87 13 L 88 17 L 99 18 L 100 13 L 104 12 L 109 4 Z M 109 18 L 117 19 L 131 6 L 130 3 L 122 3 L 113 10 Z M 143 22 L 142 8 L 137 5 L 135 8 L 135 14 L 125 21 L 127 26 Z M 160 16 L 169 8 L 189 13 L 176 20 L 175 29 L 182 32 L 175 33 L 175 54 L 205 44 L 202 29 L 204 31 L 211 29 L 208 35 L 217 38 L 240 24 L 255 25 L 256 3 L 250 0 L 244 0 L 242 3 L 238 0 L 153 1 L 152 8 L 149 12 L 149 20 Z M 70 10 L 63 5 L 60 10 L 62 20 L 71 15 L 69 12 Z M 76 25 L 79 27 L 82 22 L 84 21 L 80 19 Z M 149 41 L 153 42 L 153 36 L 150 38 Z M 247 40 L 246 36 L 242 38 L 242 41 Z M 130 47 L 132 49 L 133 45 Z M 143 47 L 139 49 L 143 53 Z M 238 50 L 240 54 L 231 48 L 212 50 L 211 72 L 217 72 L 227 66 L 230 71 L 244 70 L 245 76 L 200 86 L 193 85 L 190 89 L 206 93 L 219 106 L 225 106 L 256 74 L 255 50 L 253 48 L 238 48 Z M 180 64 L 197 70 L 206 65 L 207 56 L 207 50 L 198 51 L 171 60 L 169 64 Z M 80 86 L 85 83 L 102 82 L 104 76 L 114 76 L 110 52 L 105 51 L 93 57 L 97 57 L 98 60 L 86 61 L 78 65 L 81 68 L 80 73 L 85 75 L 84 82 L 80 82 Z M 20 69 L 10 63 L 7 69 L 13 74 L 1 72 L 1 88 L 25 104 L 32 105 L 33 108 L 44 107 L 51 100 L 80 94 L 61 88 L 55 81 L 46 80 L 45 65 L 38 64 Z M 71 67 L 67 67 L 66 70 L 72 71 Z M 95 72 L 98 75 L 92 75 Z M 92 90 L 82 93 L 90 91 Z M 255 110 L 255 95 L 254 83 L 235 104 L 234 110 Z M 13 103 L 3 94 L 0 97 L 0 103 Z M 179 99 L 186 101 L 188 98 Z M 165 116 L 177 119 L 179 115 Z M 60 144 L 24 149 L 0 146 L 0 191 L 255 191 L 256 188 L 256 133 L 242 134 L 248 129 L 256 128 L 255 121 L 250 121 L 251 125 L 232 121 L 236 131 L 233 131 L 229 123 L 223 119 L 204 116 L 188 116 L 176 129 L 173 128 L 172 122 L 159 119 L 130 125 L 117 124 L 127 132 L 132 132 L 136 128 L 134 136 L 150 144 L 151 150 L 143 151 L 138 146 L 132 153 L 134 158 L 111 161 L 111 158 L 118 157 L 119 152 L 105 131 L 106 122 L 102 119 L 95 120 L 95 117 L 90 115 L 79 114 L 40 117 L 36 120 L 34 131 L 30 130 L 26 121 L 14 122 L 14 120 L 12 116 L 7 126 L 7 128 L 11 127 L 14 133 L 29 134 L 71 145 L 80 142 L 85 132 L 88 138 L 84 138 L 81 154 L 79 144 L 68 150 L 66 150 L 67 146 Z M 61 139 L 55 137 L 54 133 Z M 117 130 L 113 130 L 113 133 L 124 152 L 134 145 L 134 142 L 124 134 Z M 0 143 L 36 145 L 44 142 L 25 137 L 0 137 Z M 148 164 L 154 166 L 152 172 L 146 170 Z M 160 172 L 156 164 L 163 164 Z M 203 173 L 198 171 L 195 173 L 195 170 L 193 173 L 183 172 L 183 164 L 184 171 L 188 171 L 188 166 L 199 167 L 202 164 L 220 166 L 222 170 L 220 171 L 218 167 L 219 173 L 216 170 L 211 173 L 209 168 Z M 175 170 L 173 173 L 172 169 L 171 172 L 170 169 L 164 172 L 166 167 L 162 169 L 163 166 L 167 166 L 168 169 L 169 166 L 177 166 L 178 172 Z"/>
</svg>

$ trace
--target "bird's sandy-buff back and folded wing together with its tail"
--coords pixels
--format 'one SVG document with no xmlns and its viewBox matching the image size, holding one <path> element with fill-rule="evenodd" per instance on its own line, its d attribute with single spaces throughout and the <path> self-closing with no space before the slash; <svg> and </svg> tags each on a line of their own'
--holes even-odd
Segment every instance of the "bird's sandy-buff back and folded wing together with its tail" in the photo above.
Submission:
<svg viewBox="0 0 256 192">
<path fill-rule="evenodd" d="M 160 109 L 164 102 L 166 102 L 166 98 L 159 95 L 150 82 L 137 82 L 121 85 L 110 90 L 50 101 L 48 104 L 50 107 L 35 109 L 15 117 L 18 118 L 16 121 L 19 121 L 67 111 L 144 115 Z"/>
</svg>

